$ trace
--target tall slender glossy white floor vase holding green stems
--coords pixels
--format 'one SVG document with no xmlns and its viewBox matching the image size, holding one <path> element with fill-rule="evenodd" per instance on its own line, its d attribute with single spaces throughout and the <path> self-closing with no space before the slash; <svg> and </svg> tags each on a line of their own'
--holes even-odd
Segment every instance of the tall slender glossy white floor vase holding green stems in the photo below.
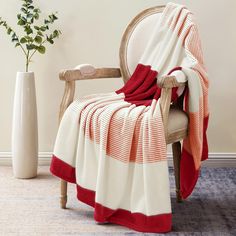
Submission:
<svg viewBox="0 0 236 236">
<path fill-rule="evenodd" d="M 16 76 L 12 125 L 12 166 L 16 178 L 37 176 L 38 122 L 33 72 Z"/>
</svg>

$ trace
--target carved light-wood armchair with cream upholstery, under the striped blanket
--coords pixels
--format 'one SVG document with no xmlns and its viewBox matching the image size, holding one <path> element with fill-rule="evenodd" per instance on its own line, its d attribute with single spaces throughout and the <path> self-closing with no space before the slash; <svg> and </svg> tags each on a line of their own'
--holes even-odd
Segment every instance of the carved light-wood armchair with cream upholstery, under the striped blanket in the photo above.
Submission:
<svg viewBox="0 0 236 236">
<path fill-rule="evenodd" d="M 150 35 L 148 32 L 151 32 L 152 27 L 149 26 L 158 20 L 163 9 L 164 6 L 159 6 L 144 10 L 128 25 L 121 40 L 120 68 L 94 68 L 91 65 L 80 65 L 75 69 L 60 72 L 60 80 L 65 81 L 65 91 L 60 106 L 59 120 L 74 99 L 76 80 L 122 77 L 124 83 L 128 81 L 146 45 L 147 36 Z M 158 85 L 162 88 L 160 103 L 166 144 L 172 144 L 176 197 L 180 202 L 180 141 L 187 136 L 188 117 L 182 111 L 183 95 L 179 97 L 176 104 L 171 104 L 171 91 L 173 87 L 182 87 L 186 83 L 179 83 L 174 76 L 165 76 L 158 79 Z M 66 208 L 66 202 L 67 182 L 61 180 L 61 208 Z"/>
</svg>

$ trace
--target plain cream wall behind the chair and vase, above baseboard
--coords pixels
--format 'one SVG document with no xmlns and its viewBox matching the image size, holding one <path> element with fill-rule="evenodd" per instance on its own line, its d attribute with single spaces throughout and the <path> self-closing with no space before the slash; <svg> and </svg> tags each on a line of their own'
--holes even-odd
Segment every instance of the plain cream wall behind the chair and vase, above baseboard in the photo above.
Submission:
<svg viewBox="0 0 236 236">
<path fill-rule="evenodd" d="M 44 56 L 36 56 L 39 150 L 52 151 L 57 131 L 63 83 L 58 72 L 80 63 L 119 65 L 118 50 L 127 23 L 142 9 L 166 4 L 160 0 L 50 0 L 35 1 L 43 12 L 59 12 L 63 35 Z M 236 1 L 174 1 L 187 5 L 198 19 L 210 77 L 210 152 L 236 153 Z M 0 0 L 0 16 L 16 26 L 21 1 Z M 0 152 L 11 150 L 11 122 L 15 75 L 24 70 L 24 58 L 0 29 Z M 118 89 L 120 79 L 83 81 L 78 95 Z"/>
</svg>

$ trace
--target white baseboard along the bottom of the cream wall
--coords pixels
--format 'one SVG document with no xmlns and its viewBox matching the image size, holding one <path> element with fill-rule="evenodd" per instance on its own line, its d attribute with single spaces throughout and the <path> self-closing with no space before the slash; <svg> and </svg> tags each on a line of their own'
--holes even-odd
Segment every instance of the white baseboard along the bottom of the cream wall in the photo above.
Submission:
<svg viewBox="0 0 236 236">
<path fill-rule="evenodd" d="M 52 152 L 39 152 L 39 166 L 50 165 Z M 0 152 L 0 166 L 11 166 L 11 152 Z M 170 166 L 173 166 L 172 153 L 167 153 Z M 203 162 L 207 167 L 236 167 L 236 153 L 209 153 L 207 161 Z"/>
</svg>

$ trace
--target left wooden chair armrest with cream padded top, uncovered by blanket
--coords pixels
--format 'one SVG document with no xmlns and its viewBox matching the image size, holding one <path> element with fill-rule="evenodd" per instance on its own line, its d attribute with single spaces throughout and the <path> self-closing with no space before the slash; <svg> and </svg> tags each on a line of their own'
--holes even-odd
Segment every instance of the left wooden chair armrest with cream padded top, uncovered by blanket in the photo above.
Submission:
<svg viewBox="0 0 236 236">
<path fill-rule="evenodd" d="M 59 74 L 60 80 L 75 81 L 102 78 L 120 78 L 119 68 L 94 68 L 91 65 L 83 64 L 75 69 L 63 70 Z"/>
</svg>

